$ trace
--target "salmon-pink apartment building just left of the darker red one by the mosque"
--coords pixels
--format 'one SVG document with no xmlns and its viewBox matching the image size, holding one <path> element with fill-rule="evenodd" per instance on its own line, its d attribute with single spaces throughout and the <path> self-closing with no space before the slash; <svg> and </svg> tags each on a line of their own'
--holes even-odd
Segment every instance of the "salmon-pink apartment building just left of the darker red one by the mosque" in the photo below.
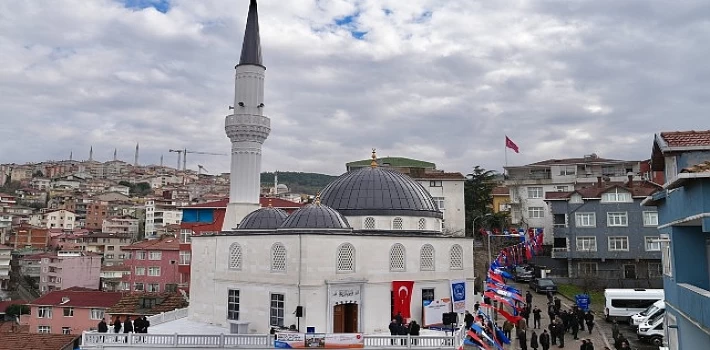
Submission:
<svg viewBox="0 0 710 350">
<path fill-rule="evenodd" d="M 124 275 L 126 282 L 135 292 L 176 292 L 180 283 L 178 263 L 180 240 L 175 237 L 160 236 L 121 248 L 130 253 L 124 265 L 130 274 Z"/>
</svg>

